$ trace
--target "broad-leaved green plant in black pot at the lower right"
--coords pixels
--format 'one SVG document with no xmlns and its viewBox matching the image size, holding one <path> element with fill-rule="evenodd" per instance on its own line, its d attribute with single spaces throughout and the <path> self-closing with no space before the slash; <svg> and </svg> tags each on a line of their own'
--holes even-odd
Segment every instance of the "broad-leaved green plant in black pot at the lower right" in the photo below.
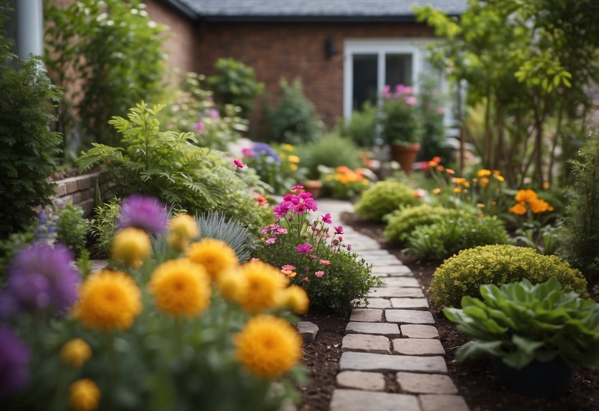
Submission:
<svg viewBox="0 0 599 411">
<path fill-rule="evenodd" d="M 480 286 L 485 300 L 463 297 L 462 308 L 443 310 L 471 337 L 456 359 L 490 354 L 498 383 L 531 397 L 568 391 L 576 365 L 599 365 L 599 304 L 564 291 L 556 277 Z"/>
</svg>

